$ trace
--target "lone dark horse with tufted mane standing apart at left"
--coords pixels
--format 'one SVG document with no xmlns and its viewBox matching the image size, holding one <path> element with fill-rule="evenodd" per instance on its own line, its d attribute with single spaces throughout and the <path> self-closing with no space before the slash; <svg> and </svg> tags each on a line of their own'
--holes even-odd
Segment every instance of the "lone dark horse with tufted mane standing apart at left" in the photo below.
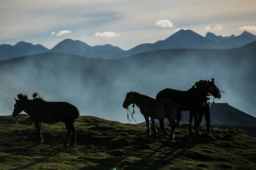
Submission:
<svg viewBox="0 0 256 170">
<path fill-rule="evenodd" d="M 39 144 L 44 141 L 42 136 L 42 122 L 52 124 L 63 121 L 68 132 L 64 146 L 69 143 L 71 131 L 73 133 L 72 144 L 75 144 L 76 137 L 73 123 L 79 117 L 78 109 L 68 102 L 46 102 L 37 96 L 38 93 L 33 93 L 34 99 L 28 100 L 27 95 L 19 93 L 19 100 L 14 98 L 16 103 L 14 104 L 12 116 L 16 117 L 21 111 L 25 111 L 29 115 L 37 127 Z"/>
</svg>

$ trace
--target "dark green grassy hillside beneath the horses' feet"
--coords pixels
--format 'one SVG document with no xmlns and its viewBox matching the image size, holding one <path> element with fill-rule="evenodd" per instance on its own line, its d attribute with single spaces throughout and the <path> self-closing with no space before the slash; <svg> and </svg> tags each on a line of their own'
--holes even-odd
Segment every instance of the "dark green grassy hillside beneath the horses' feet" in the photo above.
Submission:
<svg viewBox="0 0 256 170">
<path fill-rule="evenodd" d="M 191 170 L 255 169 L 256 139 L 238 129 L 216 128 L 219 136 L 189 135 L 187 124 L 169 140 L 162 132 L 146 137 L 146 127 L 91 116 L 76 122 L 77 144 L 62 147 L 64 123 L 43 124 L 45 143 L 27 115 L 0 116 L 0 169 Z M 169 127 L 166 127 L 170 131 Z"/>
</svg>

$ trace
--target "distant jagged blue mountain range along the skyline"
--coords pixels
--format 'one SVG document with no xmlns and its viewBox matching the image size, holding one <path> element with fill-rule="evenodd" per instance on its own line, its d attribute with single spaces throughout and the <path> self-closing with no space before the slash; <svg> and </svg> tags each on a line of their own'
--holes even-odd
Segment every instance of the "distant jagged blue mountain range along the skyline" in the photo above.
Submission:
<svg viewBox="0 0 256 170">
<path fill-rule="evenodd" d="M 165 40 L 160 40 L 155 43 L 140 44 L 128 51 L 123 51 L 119 47 L 114 47 L 110 44 L 90 46 L 85 42 L 71 39 L 65 39 L 59 42 L 51 50 L 40 44 L 33 45 L 27 42 L 18 42 L 14 46 L 2 44 L 0 45 L 0 60 L 45 52 L 62 52 L 89 58 L 119 59 L 157 50 L 239 48 L 254 41 L 256 41 L 256 35 L 246 31 L 238 36 L 231 35 L 229 37 L 222 37 L 207 33 L 206 36 L 203 37 L 192 30 L 182 29 Z"/>
</svg>

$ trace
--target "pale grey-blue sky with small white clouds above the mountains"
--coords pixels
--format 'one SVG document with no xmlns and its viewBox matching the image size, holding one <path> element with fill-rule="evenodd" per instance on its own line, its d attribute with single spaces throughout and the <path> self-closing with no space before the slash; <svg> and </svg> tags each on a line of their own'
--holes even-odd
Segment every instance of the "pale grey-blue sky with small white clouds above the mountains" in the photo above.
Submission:
<svg viewBox="0 0 256 170">
<path fill-rule="evenodd" d="M 1 0 L 0 44 L 52 49 L 70 38 L 129 50 L 180 29 L 256 34 L 256 0 Z"/>
</svg>

